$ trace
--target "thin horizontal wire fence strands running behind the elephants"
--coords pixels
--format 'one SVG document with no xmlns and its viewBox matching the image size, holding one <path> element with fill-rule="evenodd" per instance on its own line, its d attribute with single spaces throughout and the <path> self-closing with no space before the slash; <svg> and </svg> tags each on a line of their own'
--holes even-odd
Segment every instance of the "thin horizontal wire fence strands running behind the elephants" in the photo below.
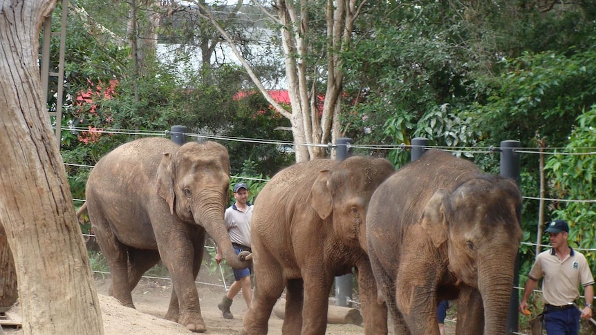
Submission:
<svg viewBox="0 0 596 335">
<path fill-rule="evenodd" d="M 62 131 L 71 131 L 71 132 L 96 132 L 96 133 L 109 133 L 109 134 L 127 134 L 127 135 L 141 135 L 141 136 L 169 136 L 171 135 L 171 131 L 130 131 L 124 129 L 103 129 L 103 130 L 90 130 L 89 128 L 62 128 Z M 197 133 L 183 133 L 185 137 L 191 138 L 203 138 L 205 140 L 218 140 L 218 141 L 230 141 L 230 142 L 246 142 L 246 143 L 253 143 L 253 144 L 272 144 L 276 146 L 319 146 L 319 147 L 326 147 L 329 149 L 335 148 L 335 144 L 326 143 L 326 144 L 306 144 L 306 143 L 293 143 L 288 141 L 274 141 L 274 140 L 266 140 L 266 139 L 255 139 L 255 138 L 246 138 L 246 137 L 228 137 L 228 136 L 219 136 L 219 135 L 205 135 L 205 134 L 197 134 Z M 379 145 L 359 145 L 359 144 L 348 144 L 348 148 L 352 149 L 362 149 L 362 150 L 371 150 L 371 151 L 391 151 L 391 150 L 398 150 L 404 151 L 407 149 L 411 149 L 416 147 L 416 145 L 412 144 L 395 144 L 395 145 L 387 145 L 387 144 L 379 144 Z M 419 146 L 420 147 L 420 146 Z M 454 153 L 459 153 L 463 155 L 479 155 L 479 154 L 496 154 L 501 152 L 501 148 L 499 146 L 487 146 L 487 147 L 458 147 L 454 148 L 451 146 L 430 146 L 425 145 L 422 146 L 424 149 L 440 149 L 444 151 L 450 151 Z M 546 148 L 546 149 L 536 149 L 536 148 L 517 148 L 514 149 L 516 153 L 523 153 L 527 155 L 596 155 L 596 148 L 593 147 L 583 147 L 583 148 L 575 148 L 574 151 L 568 151 L 567 148 Z M 67 166 L 79 166 L 79 167 L 88 167 L 92 169 L 93 166 L 85 165 L 85 164 L 77 164 L 75 162 L 66 162 L 65 165 Z M 234 180 L 235 176 L 231 176 L 231 179 Z M 260 182 L 267 182 L 268 179 L 263 178 L 251 178 L 251 177 L 241 177 L 242 180 L 256 180 Z M 581 203 L 595 203 L 595 199 L 557 199 L 557 198 L 541 198 L 539 196 L 528 196 L 523 195 L 522 197 L 524 200 L 532 200 L 532 201 L 549 201 L 549 202 L 581 202 Z M 75 202 L 84 202 L 84 199 L 73 199 Z M 90 235 L 92 236 L 92 235 Z M 539 244 L 533 242 L 521 242 L 521 245 L 528 245 L 528 246 L 538 246 Z M 539 245 L 540 247 L 550 247 L 550 245 Z M 206 246 L 205 248 L 212 248 Z M 581 249 L 575 248 L 578 251 L 596 251 L 596 249 Z M 197 281 L 196 283 L 199 285 L 214 285 L 218 287 L 222 287 L 223 289 L 227 290 L 228 286 L 225 283 L 225 274 L 223 269 L 220 267 L 220 272 L 222 276 L 223 285 L 217 285 L 212 283 L 205 283 Z M 96 271 L 99 274 L 106 274 L 105 272 Z M 160 280 L 169 280 L 169 278 L 160 278 L 160 277 L 144 277 L 144 278 L 154 278 Z M 523 287 L 514 287 L 516 290 L 523 291 Z M 541 292 L 540 290 L 536 289 L 534 292 Z M 581 297 L 583 298 L 583 296 Z M 357 300 L 348 299 L 348 303 L 353 303 L 355 305 L 360 305 L 360 302 Z M 456 320 L 446 319 L 445 321 L 450 323 L 456 323 Z M 513 332 L 513 334 L 519 335 L 527 335 L 520 332 Z"/>
</svg>

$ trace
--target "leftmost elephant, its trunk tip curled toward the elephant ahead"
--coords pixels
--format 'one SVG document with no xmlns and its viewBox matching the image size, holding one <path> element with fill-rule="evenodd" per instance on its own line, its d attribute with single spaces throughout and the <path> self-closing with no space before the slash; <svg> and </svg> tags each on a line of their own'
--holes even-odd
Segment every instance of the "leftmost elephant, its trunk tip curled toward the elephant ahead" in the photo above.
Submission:
<svg viewBox="0 0 596 335">
<path fill-rule="evenodd" d="M 86 206 L 97 243 L 111 268 L 110 294 L 134 307 L 131 291 L 142 274 L 164 262 L 174 289 L 165 318 L 205 332 L 194 280 L 201 267 L 205 231 L 227 262 L 244 268 L 227 236 L 230 159 L 221 144 L 164 138 L 122 144 L 89 175 Z"/>
</svg>

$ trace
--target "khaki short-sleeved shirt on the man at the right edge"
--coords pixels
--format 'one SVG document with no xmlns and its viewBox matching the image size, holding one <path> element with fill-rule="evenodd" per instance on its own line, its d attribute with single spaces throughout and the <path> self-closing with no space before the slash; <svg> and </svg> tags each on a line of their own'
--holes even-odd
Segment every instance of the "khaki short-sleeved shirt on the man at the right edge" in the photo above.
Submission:
<svg viewBox="0 0 596 335">
<path fill-rule="evenodd" d="M 573 249 L 564 260 L 557 256 L 555 249 L 541 252 L 528 277 L 543 278 L 544 303 L 554 306 L 568 305 L 579 298 L 580 284 L 583 287 L 594 284 L 586 257 Z"/>
</svg>

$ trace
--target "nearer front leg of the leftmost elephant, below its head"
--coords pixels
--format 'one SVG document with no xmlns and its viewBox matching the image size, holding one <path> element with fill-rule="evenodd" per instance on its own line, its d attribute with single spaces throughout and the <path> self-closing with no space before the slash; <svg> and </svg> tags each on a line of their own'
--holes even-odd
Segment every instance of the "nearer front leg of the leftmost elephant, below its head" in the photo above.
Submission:
<svg viewBox="0 0 596 335">
<path fill-rule="evenodd" d="M 170 299 L 170 307 L 178 305 L 178 313 L 168 310 L 166 318 L 175 320 L 187 327 L 192 332 L 205 332 L 205 321 L 201 316 L 201 307 L 198 292 L 194 283 L 194 247 L 188 236 L 192 232 L 180 228 L 178 231 L 169 231 L 163 238 L 161 233 L 156 233 L 156 240 L 162 261 L 165 263 L 171 276 L 174 287 Z M 178 301 L 177 301 L 178 300 Z"/>
</svg>

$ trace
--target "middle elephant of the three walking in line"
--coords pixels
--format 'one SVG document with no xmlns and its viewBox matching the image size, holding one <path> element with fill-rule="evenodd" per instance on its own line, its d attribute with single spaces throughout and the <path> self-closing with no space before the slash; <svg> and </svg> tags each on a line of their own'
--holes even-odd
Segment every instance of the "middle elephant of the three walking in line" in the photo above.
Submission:
<svg viewBox="0 0 596 335">
<path fill-rule="evenodd" d="M 364 223 L 371 195 L 393 172 L 387 160 L 355 156 L 302 162 L 274 175 L 254 205 L 254 295 L 245 333 L 267 333 L 285 288 L 283 334 L 325 334 L 333 280 L 356 267 L 365 332 L 387 334 L 387 307 L 378 303 Z"/>
</svg>

